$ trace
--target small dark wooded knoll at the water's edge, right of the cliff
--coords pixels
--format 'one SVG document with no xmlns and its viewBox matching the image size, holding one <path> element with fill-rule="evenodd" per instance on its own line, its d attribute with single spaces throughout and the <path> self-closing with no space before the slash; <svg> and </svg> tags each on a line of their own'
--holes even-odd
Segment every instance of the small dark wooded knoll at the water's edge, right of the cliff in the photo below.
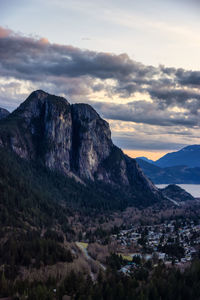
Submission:
<svg viewBox="0 0 200 300">
<path fill-rule="evenodd" d="M 194 200 L 191 194 L 186 192 L 184 189 L 180 188 L 175 184 L 170 184 L 166 188 L 161 189 L 164 196 L 173 199 L 177 202 L 191 201 Z"/>
</svg>

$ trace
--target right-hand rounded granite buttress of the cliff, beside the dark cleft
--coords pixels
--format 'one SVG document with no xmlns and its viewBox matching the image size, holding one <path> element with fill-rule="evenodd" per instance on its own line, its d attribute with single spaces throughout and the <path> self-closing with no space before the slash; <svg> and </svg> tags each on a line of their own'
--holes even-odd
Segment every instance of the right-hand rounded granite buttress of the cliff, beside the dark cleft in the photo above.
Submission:
<svg viewBox="0 0 200 300">
<path fill-rule="evenodd" d="M 111 153 L 113 143 L 106 121 L 87 104 L 72 105 L 72 170 L 94 179 L 99 164 Z"/>
</svg>

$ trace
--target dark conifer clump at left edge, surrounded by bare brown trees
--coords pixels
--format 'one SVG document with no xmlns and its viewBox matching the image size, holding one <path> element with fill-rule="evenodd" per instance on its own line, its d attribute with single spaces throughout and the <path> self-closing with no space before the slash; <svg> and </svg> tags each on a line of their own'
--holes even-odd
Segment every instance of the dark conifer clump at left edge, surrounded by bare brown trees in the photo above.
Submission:
<svg viewBox="0 0 200 300">
<path fill-rule="evenodd" d="M 13 232 L 5 235 L 0 243 L 0 270 L 12 282 L 20 273 L 20 268 L 37 268 L 57 262 L 72 262 L 70 249 L 63 244 L 64 238 L 55 231 Z"/>
</svg>

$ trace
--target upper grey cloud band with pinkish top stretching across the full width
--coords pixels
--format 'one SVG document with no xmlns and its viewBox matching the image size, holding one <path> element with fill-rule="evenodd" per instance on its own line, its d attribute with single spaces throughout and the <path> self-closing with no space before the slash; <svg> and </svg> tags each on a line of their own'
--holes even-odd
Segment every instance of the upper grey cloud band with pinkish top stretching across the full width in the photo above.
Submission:
<svg viewBox="0 0 200 300">
<path fill-rule="evenodd" d="M 46 38 L 25 37 L 4 28 L 0 28 L 0 64 L 1 76 L 23 80 L 56 84 L 60 80 L 62 85 L 68 78 L 113 79 L 113 93 L 121 97 L 138 91 L 166 103 L 170 99 L 179 102 L 180 98 L 184 101 L 199 97 L 199 91 L 185 91 L 182 86 L 198 86 L 200 72 L 145 66 L 125 53 L 115 55 L 51 44 Z"/>
</svg>

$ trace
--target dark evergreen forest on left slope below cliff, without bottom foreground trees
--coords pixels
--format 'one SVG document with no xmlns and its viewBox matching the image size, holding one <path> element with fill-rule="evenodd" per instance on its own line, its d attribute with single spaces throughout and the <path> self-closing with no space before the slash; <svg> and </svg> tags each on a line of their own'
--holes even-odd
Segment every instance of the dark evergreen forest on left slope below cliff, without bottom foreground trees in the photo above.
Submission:
<svg viewBox="0 0 200 300">
<path fill-rule="evenodd" d="M 9 150 L 0 149 L 0 161 L 0 272 L 9 293 L 21 267 L 39 269 L 73 261 L 67 243 L 82 234 L 74 232 L 70 218 L 95 219 L 128 205 L 123 191 L 80 184 Z"/>
</svg>

